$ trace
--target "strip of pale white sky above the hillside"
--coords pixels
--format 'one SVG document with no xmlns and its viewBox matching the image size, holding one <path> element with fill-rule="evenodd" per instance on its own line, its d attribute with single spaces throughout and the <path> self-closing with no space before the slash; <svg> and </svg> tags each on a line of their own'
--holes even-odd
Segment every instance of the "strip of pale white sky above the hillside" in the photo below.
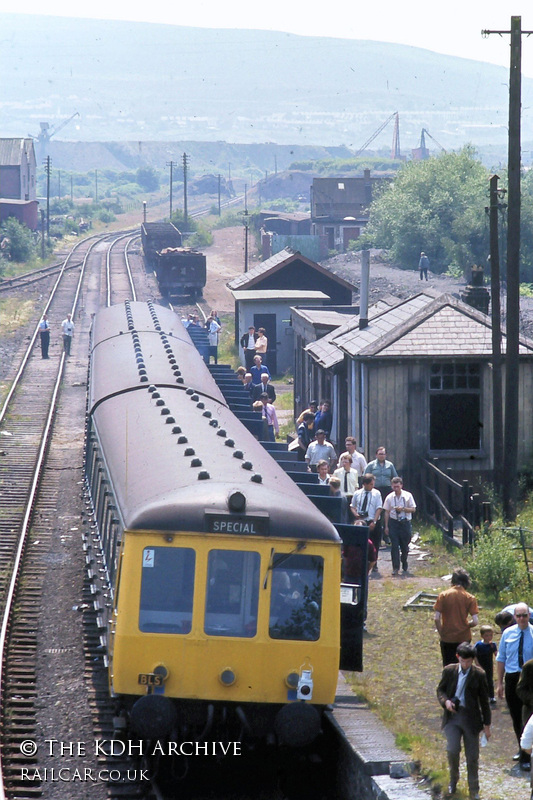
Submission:
<svg viewBox="0 0 533 800">
<path fill-rule="evenodd" d="M 121 19 L 201 28 L 251 28 L 302 36 L 373 39 L 423 47 L 437 53 L 509 67 L 509 36 L 481 36 L 482 29 L 508 31 L 511 16 L 533 31 L 532 0 L 25 0 L 24 13 Z M 522 37 L 522 74 L 533 78 L 533 35 Z"/>
</svg>

